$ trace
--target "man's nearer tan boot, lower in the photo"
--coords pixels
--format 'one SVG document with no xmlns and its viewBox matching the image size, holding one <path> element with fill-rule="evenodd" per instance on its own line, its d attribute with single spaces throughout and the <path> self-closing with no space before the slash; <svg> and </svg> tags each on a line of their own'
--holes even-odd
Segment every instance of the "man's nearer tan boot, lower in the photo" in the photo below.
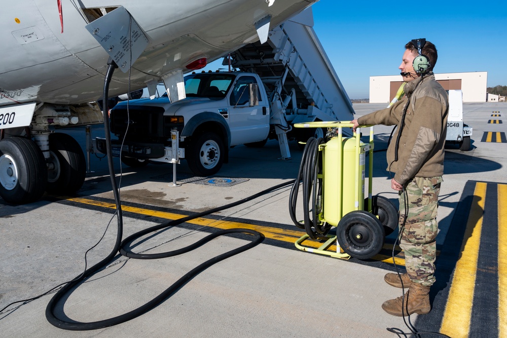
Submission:
<svg viewBox="0 0 507 338">
<path fill-rule="evenodd" d="M 382 309 L 393 316 L 408 316 L 413 313 L 424 315 L 431 310 L 429 304 L 429 286 L 423 286 L 419 283 L 412 283 L 404 296 L 404 305 L 402 311 L 402 297 L 390 299 L 382 304 Z"/>
</svg>

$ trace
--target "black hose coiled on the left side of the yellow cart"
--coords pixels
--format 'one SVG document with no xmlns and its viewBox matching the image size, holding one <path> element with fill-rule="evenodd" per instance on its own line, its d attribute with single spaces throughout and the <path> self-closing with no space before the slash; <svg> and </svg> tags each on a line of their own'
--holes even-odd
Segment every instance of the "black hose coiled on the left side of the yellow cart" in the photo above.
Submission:
<svg viewBox="0 0 507 338">
<path fill-rule="evenodd" d="M 303 157 L 299 166 L 298 177 L 289 195 L 289 214 L 291 219 L 300 229 L 305 229 L 308 236 L 315 240 L 325 236 L 331 226 L 327 223 L 320 224 L 318 215 L 322 209 L 322 159 L 319 156 L 319 145 L 324 143 L 323 138 L 310 137 L 303 150 Z M 299 184 L 303 181 L 303 223 L 296 218 L 296 208 L 299 194 Z M 311 218 L 310 218 L 311 216 Z"/>
</svg>

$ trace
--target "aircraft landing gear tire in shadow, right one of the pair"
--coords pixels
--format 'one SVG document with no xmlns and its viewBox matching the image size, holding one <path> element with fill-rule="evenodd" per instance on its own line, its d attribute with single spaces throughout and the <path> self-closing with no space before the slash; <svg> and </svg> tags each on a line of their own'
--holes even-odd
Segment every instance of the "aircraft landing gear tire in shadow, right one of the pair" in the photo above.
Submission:
<svg viewBox="0 0 507 338">
<path fill-rule="evenodd" d="M 86 160 L 81 145 L 70 135 L 49 135 L 48 186 L 53 194 L 72 194 L 83 186 Z"/>
</svg>

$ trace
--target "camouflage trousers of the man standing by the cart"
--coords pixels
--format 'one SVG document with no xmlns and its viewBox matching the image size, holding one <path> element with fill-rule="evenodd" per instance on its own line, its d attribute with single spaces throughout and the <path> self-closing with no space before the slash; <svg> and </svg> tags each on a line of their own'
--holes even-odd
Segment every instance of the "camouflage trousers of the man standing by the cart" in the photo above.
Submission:
<svg viewBox="0 0 507 338">
<path fill-rule="evenodd" d="M 442 176 L 415 177 L 405 185 L 406 193 L 400 192 L 399 196 L 400 226 L 405 221 L 400 239 L 405 267 L 410 279 L 424 286 L 435 282 L 437 208 L 442 181 Z"/>
</svg>

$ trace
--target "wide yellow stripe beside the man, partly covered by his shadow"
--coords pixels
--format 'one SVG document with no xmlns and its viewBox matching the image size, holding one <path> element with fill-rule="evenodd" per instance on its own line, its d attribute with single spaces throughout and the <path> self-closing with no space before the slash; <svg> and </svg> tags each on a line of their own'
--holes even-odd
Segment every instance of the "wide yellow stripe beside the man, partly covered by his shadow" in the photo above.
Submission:
<svg viewBox="0 0 507 338">
<path fill-rule="evenodd" d="M 474 303 L 477 260 L 481 242 L 486 183 L 477 182 L 468 214 L 461 257 L 456 263 L 440 332 L 453 338 L 467 338 Z"/>
</svg>

